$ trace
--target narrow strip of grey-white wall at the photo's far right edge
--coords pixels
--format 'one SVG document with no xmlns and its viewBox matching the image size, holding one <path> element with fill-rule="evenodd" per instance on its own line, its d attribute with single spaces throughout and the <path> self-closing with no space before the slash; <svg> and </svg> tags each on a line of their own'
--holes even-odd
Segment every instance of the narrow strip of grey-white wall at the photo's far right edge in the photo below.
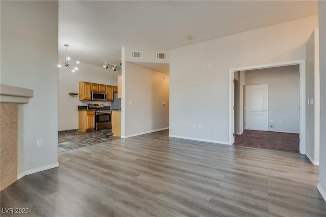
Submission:
<svg viewBox="0 0 326 217">
<path fill-rule="evenodd" d="M 326 201 L 326 2 L 319 1 L 320 159 L 318 190 Z"/>
</svg>

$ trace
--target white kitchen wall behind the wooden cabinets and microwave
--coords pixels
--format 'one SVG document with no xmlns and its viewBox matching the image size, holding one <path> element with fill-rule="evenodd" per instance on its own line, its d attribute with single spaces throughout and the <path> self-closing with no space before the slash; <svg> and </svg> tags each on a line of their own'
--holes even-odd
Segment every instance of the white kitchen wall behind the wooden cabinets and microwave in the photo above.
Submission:
<svg viewBox="0 0 326 217">
<path fill-rule="evenodd" d="M 104 69 L 85 63 L 78 65 L 76 72 L 71 72 L 68 67 L 59 69 L 59 131 L 78 129 L 78 106 L 88 103 L 102 103 L 111 106 L 111 102 L 79 101 L 78 96 L 70 96 L 70 92 L 78 93 L 79 81 L 117 86 L 117 76 L 121 75 L 121 68 L 117 71 Z"/>
</svg>

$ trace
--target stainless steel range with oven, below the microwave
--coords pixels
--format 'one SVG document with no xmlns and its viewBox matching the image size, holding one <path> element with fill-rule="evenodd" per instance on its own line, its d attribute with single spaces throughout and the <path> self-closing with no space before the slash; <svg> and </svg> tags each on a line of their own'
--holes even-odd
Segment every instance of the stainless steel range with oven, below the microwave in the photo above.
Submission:
<svg viewBox="0 0 326 217">
<path fill-rule="evenodd" d="M 88 109 L 95 110 L 95 130 L 111 129 L 111 111 L 103 104 L 88 104 Z"/>
</svg>

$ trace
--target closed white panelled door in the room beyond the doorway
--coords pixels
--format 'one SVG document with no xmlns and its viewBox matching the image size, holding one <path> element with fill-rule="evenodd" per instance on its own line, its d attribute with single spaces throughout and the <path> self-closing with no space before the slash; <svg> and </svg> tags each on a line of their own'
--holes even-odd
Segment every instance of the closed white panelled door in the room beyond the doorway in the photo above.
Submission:
<svg viewBox="0 0 326 217">
<path fill-rule="evenodd" d="M 246 129 L 268 131 L 268 85 L 246 86 Z"/>
</svg>

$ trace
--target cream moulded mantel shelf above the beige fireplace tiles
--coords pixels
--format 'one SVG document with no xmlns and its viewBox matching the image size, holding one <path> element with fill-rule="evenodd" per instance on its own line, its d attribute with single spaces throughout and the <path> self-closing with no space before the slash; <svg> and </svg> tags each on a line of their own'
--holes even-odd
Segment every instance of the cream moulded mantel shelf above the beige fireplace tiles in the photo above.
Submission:
<svg viewBox="0 0 326 217">
<path fill-rule="evenodd" d="M 0 84 L 0 103 L 29 103 L 33 90 Z"/>
</svg>

